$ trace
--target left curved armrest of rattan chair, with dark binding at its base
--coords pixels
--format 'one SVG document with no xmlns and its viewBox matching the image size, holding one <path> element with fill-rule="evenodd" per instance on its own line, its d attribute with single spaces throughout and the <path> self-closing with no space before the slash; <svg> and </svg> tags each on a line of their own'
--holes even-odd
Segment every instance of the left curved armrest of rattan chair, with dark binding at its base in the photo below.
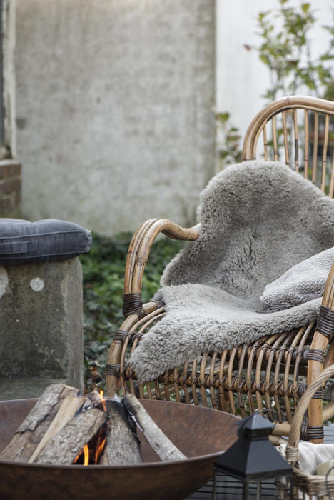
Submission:
<svg viewBox="0 0 334 500">
<path fill-rule="evenodd" d="M 168 219 L 149 219 L 138 227 L 131 239 L 126 256 L 124 276 L 123 314 L 146 314 L 141 303 L 141 286 L 143 271 L 150 254 L 153 241 L 163 233 L 169 238 L 179 240 L 196 240 L 199 235 L 199 224 L 190 229 L 178 226 Z"/>
</svg>

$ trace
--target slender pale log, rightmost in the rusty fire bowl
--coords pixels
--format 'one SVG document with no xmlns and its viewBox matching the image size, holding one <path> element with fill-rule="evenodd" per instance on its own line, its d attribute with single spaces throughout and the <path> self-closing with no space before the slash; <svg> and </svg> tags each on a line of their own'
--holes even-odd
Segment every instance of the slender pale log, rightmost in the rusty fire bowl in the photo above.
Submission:
<svg viewBox="0 0 334 500">
<path fill-rule="evenodd" d="M 149 416 L 136 396 L 128 394 L 123 397 L 122 402 L 128 413 L 135 417 L 138 426 L 140 426 L 143 431 L 143 435 L 161 460 L 184 460 L 187 458 L 178 448 L 176 448 L 172 441 L 168 439 L 166 434 L 161 431 L 155 421 L 151 419 L 151 416 Z"/>
</svg>

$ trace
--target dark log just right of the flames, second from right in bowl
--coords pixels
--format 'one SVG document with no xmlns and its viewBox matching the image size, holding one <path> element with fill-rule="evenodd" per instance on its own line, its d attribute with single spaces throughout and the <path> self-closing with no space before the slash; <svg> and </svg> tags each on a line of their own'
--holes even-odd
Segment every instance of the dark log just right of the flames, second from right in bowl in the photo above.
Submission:
<svg viewBox="0 0 334 500">
<path fill-rule="evenodd" d="M 108 410 L 108 431 L 100 464 L 140 464 L 142 459 L 139 441 L 133 432 L 136 426 L 131 427 L 126 409 L 121 402 L 111 399 L 106 399 L 106 407 Z"/>
</svg>

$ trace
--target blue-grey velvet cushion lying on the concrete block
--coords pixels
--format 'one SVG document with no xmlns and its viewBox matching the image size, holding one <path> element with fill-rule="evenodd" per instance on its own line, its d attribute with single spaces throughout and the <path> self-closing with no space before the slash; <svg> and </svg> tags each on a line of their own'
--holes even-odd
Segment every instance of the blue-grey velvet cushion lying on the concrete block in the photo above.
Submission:
<svg viewBox="0 0 334 500">
<path fill-rule="evenodd" d="M 91 231 L 57 219 L 0 219 L 0 264 L 63 261 L 91 248 Z"/>
</svg>

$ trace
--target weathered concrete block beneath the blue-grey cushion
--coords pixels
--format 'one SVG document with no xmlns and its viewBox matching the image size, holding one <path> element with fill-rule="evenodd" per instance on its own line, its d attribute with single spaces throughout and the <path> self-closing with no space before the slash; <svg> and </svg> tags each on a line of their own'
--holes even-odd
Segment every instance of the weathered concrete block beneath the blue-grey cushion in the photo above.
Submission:
<svg viewBox="0 0 334 500">
<path fill-rule="evenodd" d="M 0 399 L 37 397 L 54 381 L 83 390 L 78 258 L 0 266 Z"/>
</svg>

